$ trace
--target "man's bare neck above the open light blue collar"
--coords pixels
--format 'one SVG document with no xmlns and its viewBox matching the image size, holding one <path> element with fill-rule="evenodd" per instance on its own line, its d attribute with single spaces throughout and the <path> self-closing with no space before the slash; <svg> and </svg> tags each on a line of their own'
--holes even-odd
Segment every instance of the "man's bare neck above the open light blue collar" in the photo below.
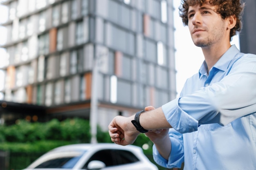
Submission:
<svg viewBox="0 0 256 170">
<path fill-rule="evenodd" d="M 207 64 L 207 73 L 209 73 L 210 69 L 218 62 L 220 57 L 226 53 L 226 51 L 230 48 L 231 44 L 225 43 L 220 45 L 211 45 L 207 47 L 202 47 L 202 51 L 204 54 L 204 59 Z"/>
</svg>

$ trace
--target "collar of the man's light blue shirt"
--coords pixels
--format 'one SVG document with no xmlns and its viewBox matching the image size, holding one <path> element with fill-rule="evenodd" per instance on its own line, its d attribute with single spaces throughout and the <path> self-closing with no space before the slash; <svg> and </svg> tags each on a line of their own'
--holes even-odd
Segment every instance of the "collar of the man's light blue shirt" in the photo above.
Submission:
<svg viewBox="0 0 256 170">
<path fill-rule="evenodd" d="M 217 68 L 218 70 L 225 71 L 231 60 L 236 56 L 237 53 L 240 51 L 236 48 L 236 45 L 232 45 L 223 55 L 220 57 L 220 59 L 214 64 L 213 67 Z M 201 75 L 207 75 L 207 65 L 204 60 L 202 63 L 200 69 L 199 69 L 199 78 Z"/>
</svg>

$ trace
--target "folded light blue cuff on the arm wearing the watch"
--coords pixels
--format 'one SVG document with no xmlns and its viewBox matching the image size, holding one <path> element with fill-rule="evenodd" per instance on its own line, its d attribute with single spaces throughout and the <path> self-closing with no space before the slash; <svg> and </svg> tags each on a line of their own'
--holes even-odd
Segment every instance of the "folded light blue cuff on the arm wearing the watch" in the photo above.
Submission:
<svg viewBox="0 0 256 170">
<path fill-rule="evenodd" d="M 178 132 L 187 133 L 198 130 L 198 121 L 180 108 L 180 98 L 174 99 L 162 106 L 168 123 Z"/>
</svg>

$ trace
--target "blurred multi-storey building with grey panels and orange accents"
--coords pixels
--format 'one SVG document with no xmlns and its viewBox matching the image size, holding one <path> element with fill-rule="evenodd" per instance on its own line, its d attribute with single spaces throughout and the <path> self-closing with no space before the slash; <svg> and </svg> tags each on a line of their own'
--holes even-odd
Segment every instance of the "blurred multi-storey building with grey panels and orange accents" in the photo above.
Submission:
<svg viewBox="0 0 256 170">
<path fill-rule="evenodd" d="M 176 97 L 172 0 L 2 4 L 1 124 L 83 117 L 107 130 L 116 115 Z"/>
</svg>

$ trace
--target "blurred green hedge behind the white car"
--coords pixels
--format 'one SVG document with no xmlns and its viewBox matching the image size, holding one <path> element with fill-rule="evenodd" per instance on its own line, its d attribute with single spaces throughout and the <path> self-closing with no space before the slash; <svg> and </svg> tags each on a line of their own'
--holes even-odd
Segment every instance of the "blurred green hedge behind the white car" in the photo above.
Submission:
<svg viewBox="0 0 256 170">
<path fill-rule="evenodd" d="M 52 119 L 45 123 L 20 120 L 18 124 L 0 126 L 0 150 L 10 152 L 47 152 L 67 144 L 90 143 L 90 140 L 89 121 L 79 118 L 65 121 Z M 99 127 L 97 140 L 99 143 L 112 142 L 108 132 Z M 141 134 L 134 145 L 142 147 L 144 144 L 152 146 L 152 142 Z"/>
</svg>

